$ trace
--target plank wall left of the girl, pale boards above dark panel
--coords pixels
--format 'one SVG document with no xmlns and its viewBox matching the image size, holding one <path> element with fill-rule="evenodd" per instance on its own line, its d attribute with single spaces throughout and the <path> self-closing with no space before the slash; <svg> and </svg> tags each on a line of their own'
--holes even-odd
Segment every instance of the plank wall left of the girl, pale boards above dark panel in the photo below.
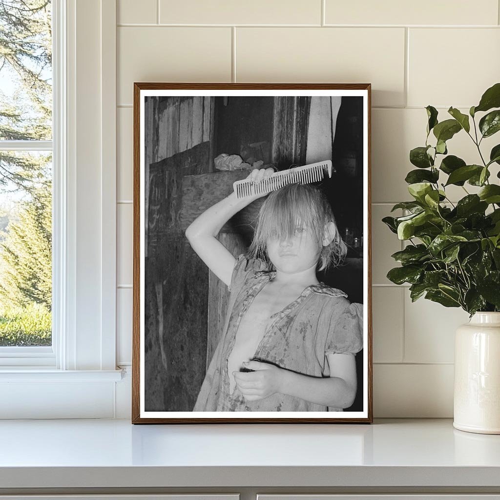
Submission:
<svg viewBox="0 0 500 500">
<path fill-rule="evenodd" d="M 178 220 L 182 177 L 212 168 L 212 112 L 210 97 L 145 102 L 147 411 L 191 410 L 205 374 L 208 269 Z"/>
</svg>

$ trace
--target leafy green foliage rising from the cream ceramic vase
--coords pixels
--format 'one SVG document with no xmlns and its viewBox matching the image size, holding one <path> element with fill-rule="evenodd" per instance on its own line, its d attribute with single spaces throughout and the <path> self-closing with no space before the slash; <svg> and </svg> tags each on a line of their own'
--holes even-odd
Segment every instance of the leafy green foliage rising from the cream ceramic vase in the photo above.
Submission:
<svg viewBox="0 0 500 500">
<path fill-rule="evenodd" d="M 409 160 L 417 168 L 405 178 L 413 200 L 393 206 L 392 211 L 403 209 L 403 216 L 382 219 L 399 239 L 408 241 L 403 250 L 392 254 L 402 265 L 390 269 L 387 277 L 396 284 L 410 283 L 412 301 L 425 294 L 471 315 L 500 311 L 500 185 L 490 176 L 490 169 L 500 164 L 500 144 L 492 147 L 487 161 L 479 147 L 483 138 L 500 130 L 500 109 L 494 109 L 499 107 L 500 83 L 488 88 L 479 104 L 470 108 L 472 127 L 469 115 L 457 108 L 448 109 L 451 118 L 438 121 L 437 110 L 425 107 L 425 146 L 411 149 Z M 476 126 L 477 113 L 486 111 Z M 448 154 L 446 141 L 462 130 L 474 142 L 482 164 Z M 431 131 L 434 145 L 428 143 Z M 465 182 L 477 186 L 477 193 L 469 193 Z M 450 185 L 466 193 L 456 204 L 446 193 Z"/>
</svg>

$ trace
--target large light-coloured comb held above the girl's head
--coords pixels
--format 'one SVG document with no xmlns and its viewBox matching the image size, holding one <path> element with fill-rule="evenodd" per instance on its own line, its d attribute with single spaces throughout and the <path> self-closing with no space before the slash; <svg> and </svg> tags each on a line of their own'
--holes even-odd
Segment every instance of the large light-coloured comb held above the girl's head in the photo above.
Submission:
<svg viewBox="0 0 500 500">
<path fill-rule="evenodd" d="M 232 186 L 236 197 L 244 198 L 245 196 L 275 191 L 295 182 L 299 184 L 318 182 L 323 179 L 325 170 L 328 171 L 328 177 L 331 177 L 331 161 L 329 159 L 287 170 L 279 170 L 260 182 L 253 182 L 251 179 L 236 180 Z"/>
</svg>

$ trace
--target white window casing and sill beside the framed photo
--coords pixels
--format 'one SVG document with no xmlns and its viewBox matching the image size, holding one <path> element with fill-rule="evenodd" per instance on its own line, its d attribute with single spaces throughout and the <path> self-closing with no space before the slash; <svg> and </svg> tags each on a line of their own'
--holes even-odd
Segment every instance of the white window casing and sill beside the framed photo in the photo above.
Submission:
<svg viewBox="0 0 500 500">
<path fill-rule="evenodd" d="M 43 418 L 78 417 L 88 411 L 84 404 L 113 417 L 109 394 L 121 379 L 115 364 L 116 0 L 52 0 L 52 35 L 52 352 L 0 352 L 0 397 L 8 408 L 0 418 L 40 418 L 39 407 L 26 400 L 45 396 Z M 19 382 L 15 393 L 11 381 Z M 64 383 L 54 390 L 54 382 Z"/>
</svg>

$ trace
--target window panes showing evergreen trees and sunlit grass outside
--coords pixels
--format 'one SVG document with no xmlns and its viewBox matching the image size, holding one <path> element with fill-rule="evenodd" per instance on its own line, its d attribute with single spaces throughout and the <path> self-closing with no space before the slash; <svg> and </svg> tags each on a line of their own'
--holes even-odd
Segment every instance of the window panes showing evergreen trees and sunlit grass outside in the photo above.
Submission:
<svg viewBox="0 0 500 500">
<path fill-rule="evenodd" d="M 2 0 L 0 24 L 0 362 L 55 366 L 52 0 Z"/>
</svg>

